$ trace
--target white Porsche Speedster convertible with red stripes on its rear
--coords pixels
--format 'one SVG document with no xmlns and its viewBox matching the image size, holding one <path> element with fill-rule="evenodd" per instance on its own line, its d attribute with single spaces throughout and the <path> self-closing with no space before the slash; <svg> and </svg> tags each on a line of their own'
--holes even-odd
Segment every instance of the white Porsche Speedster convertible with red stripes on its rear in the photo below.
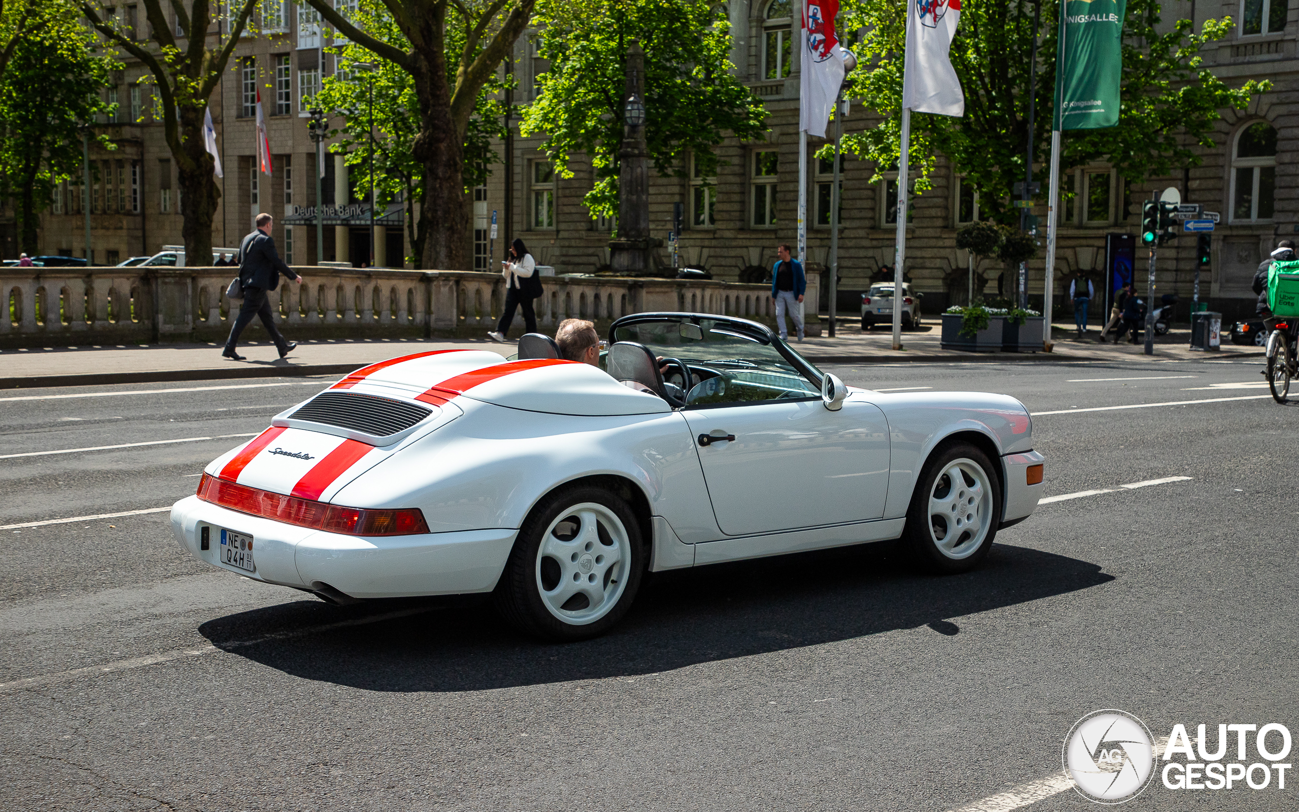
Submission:
<svg viewBox="0 0 1299 812">
<path fill-rule="evenodd" d="M 698 313 L 611 327 L 601 368 L 421 352 L 275 416 L 171 509 L 213 566 L 334 603 L 492 592 L 579 639 L 646 572 L 900 539 L 976 566 L 1042 495 L 1018 400 L 846 387 L 770 329 Z"/>
</svg>

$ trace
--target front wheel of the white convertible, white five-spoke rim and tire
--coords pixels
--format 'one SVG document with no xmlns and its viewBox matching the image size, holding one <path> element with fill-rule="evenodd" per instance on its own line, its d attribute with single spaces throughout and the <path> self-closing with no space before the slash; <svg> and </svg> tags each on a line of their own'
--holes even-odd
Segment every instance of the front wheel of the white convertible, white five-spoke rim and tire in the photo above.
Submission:
<svg viewBox="0 0 1299 812">
<path fill-rule="evenodd" d="M 926 569 L 963 573 L 987 555 L 1000 522 L 1002 483 L 992 461 L 970 443 L 953 443 L 921 469 L 902 540 Z"/>
</svg>

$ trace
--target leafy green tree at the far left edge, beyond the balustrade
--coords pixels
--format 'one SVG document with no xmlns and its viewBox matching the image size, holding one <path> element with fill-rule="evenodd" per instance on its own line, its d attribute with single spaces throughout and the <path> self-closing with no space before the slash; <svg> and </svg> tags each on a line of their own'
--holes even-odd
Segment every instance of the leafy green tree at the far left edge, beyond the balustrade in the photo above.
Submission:
<svg viewBox="0 0 1299 812">
<path fill-rule="evenodd" d="M 81 171 L 79 129 L 110 107 L 100 91 L 112 62 L 95 56 L 96 45 L 75 18 L 43 26 L 10 52 L 0 79 L 0 184 L 14 199 L 27 253 L 39 253 L 38 217 L 55 186 Z"/>
</svg>

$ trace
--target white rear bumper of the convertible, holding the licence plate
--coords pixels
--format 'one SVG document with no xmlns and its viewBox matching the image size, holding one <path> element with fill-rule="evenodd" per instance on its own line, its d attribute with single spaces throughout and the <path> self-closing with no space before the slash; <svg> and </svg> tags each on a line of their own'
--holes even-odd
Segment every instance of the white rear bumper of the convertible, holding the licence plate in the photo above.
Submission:
<svg viewBox="0 0 1299 812">
<path fill-rule="evenodd" d="M 201 530 L 209 527 L 209 548 Z M 255 572 L 221 561 L 221 529 L 253 538 Z M 496 586 L 518 530 L 356 537 L 230 511 L 197 496 L 171 507 L 177 542 L 200 561 L 253 581 L 305 590 L 327 585 L 352 598 L 487 592 Z"/>
</svg>

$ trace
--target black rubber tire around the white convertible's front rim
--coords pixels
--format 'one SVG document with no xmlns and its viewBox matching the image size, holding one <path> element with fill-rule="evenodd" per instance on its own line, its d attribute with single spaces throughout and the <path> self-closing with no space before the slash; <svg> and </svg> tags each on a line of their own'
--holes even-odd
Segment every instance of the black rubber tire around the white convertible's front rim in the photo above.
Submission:
<svg viewBox="0 0 1299 812">
<path fill-rule="evenodd" d="M 968 481 L 960 483 L 968 488 L 965 491 L 960 490 L 960 485 L 951 485 L 953 464 L 959 464 L 961 469 L 966 468 L 966 465 L 981 469 L 982 481 L 979 482 L 981 487 L 977 495 L 974 495 Z M 950 485 L 947 491 L 939 488 L 939 478 L 944 474 Z M 978 478 L 976 477 L 976 479 Z M 951 494 L 953 504 L 960 503 L 965 513 L 961 517 L 956 517 L 956 524 L 960 524 L 964 516 L 974 514 L 979 520 L 979 529 L 983 531 L 981 534 L 972 534 L 969 539 L 963 542 L 961 538 L 968 530 L 960 526 L 948 526 L 944 521 L 942 540 L 947 540 L 952 533 L 957 534 L 952 542 L 948 542 L 952 546 L 952 551 L 944 551 L 938 538 L 938 522 L 934 521 L 942 517 L 930 514 L 930 496 L 935 492 L 940 495 L 944 503 L 947 496 L 943 494 Z M 978 509 L 970 511 L 973 505 L 965 504 L 964 498 L 959 500 L 957 494 L 974 495 Z M 940 574 L 963 573 L 978 566 L 979 561 L 987 556 L 987 551 L 992 547 L 992 540 L 996 537 L 996 529 L 1000 524 L 1002 481 L 996 476 L 992 461 L 978 447 L 970 443 L 956 442 L 938 448 L 925 461 L 925 466 L 921 469 L 916 483 L 916 490 L 911 495 L 911 505 L 907 508 L 907 526 L 903 529 L 900 542 L 903 550 L 924 569 Z"/>
</svg>

